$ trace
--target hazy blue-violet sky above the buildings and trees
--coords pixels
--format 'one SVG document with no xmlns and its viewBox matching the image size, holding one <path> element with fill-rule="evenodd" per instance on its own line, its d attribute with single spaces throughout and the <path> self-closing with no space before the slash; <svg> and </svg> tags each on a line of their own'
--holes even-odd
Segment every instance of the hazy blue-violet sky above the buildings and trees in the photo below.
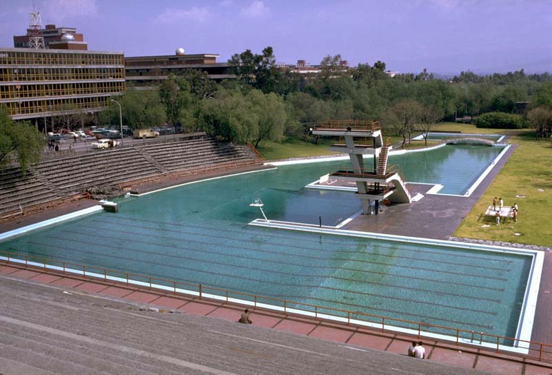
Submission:
<svg viewBox="0 0 552 375">
<path fill-rule="evenodd" d="M 76 27 L 90 50 L 127 56 L 218 53 L 273 46 L 277 61 L 436 73 L 552 72 L 552 0 L 0 0 L 0 46 L 25 33 L 28 12 Z"/>
</svg>

